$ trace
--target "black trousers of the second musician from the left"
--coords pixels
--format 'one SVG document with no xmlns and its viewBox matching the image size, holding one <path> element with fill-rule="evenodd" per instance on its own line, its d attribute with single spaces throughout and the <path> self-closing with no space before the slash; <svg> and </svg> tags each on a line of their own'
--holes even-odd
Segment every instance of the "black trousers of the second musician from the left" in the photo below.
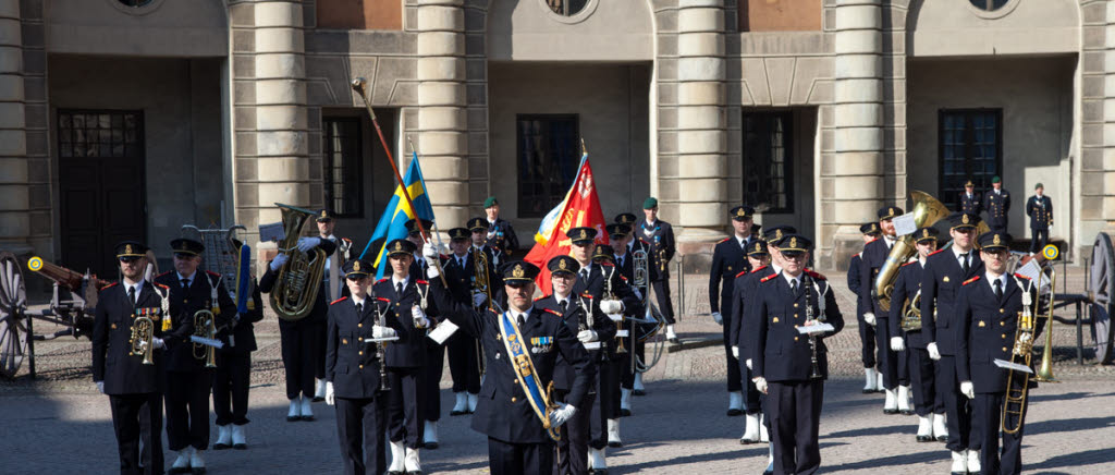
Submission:
<svg viewBox="0 0 1115 475">
<path fill-rule="evenodd" d="M 166 442 L 171 450 L 209 447 L 212 371 L 166 371 Z"/>
</svg>

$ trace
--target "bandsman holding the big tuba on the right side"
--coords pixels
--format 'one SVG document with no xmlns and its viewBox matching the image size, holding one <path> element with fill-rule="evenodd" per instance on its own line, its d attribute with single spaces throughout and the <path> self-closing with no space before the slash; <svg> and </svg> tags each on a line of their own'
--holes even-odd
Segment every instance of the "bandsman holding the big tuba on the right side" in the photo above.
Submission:
<svg viewBox="0 0 1115 475">
<path fill-rule="evenodd" d="M 879 209 L 879 229 L 882 239 L 869 242 L 863 246 L 863 261 L 860 264 L 860 291 L 856 292 L 860 304 L 863 306 L 863 321 L 875 327 L 875 345 L 879 348 L 879 372 L 883 375 L 883 390 L 886 399 L 883 401 L 883 414 L 910 413 L 910 375 L 906 371 L 905 351 L 891 349 L 890 313 L 879 306 L 874 294 L 875 277 L 886 263 L 891 248 L 898 241 L 893 219 L 902 215 L 898 206 Z M 878 323 L 878 324 L 876 324 Z"/>
</svg>

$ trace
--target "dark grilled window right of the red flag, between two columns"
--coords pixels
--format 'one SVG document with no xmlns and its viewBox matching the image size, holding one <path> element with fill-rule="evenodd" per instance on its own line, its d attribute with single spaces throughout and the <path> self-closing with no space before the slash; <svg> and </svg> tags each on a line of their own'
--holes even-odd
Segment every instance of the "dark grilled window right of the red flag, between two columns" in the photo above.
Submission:
<svg viewBox="0 0 1115 475">
<path fill-rule="evenodd" d="M 793 114 L 744 114 L 744 203 L 766 213 L 794 212 Z"/>
</svg>

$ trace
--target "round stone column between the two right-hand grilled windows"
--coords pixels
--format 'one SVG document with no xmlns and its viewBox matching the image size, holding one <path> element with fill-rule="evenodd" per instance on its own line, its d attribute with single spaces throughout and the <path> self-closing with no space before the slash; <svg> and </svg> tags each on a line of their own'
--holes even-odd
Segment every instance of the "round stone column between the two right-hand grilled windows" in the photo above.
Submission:
<svg viewBox="0 0 1115 475">
<path fill-rule="evenodd" d="M 883 196 L 882 12 L 880 0 L 837 0 L 833 154 L 822 166 L 822 232 L 830 268 L 859 251 L 860 224 Z"/>
</svg>

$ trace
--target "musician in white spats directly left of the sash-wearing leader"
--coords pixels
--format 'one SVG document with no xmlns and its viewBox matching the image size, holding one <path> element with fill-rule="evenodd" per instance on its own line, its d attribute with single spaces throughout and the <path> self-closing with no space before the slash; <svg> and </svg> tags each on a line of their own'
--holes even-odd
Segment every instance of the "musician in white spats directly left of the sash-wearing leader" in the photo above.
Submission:
<svg viewBox="0 0 1115 475">
<path fill-rule="evenodd" d="M 387 243 L 391 277 L 380 279 L 372 288 L 376 297 L 390 300 L 395 314 L 403 322 L 401 339 L 387 346 L 387 376 L 391 388 L 387 399 L 387 432 L 391 440 L 388 473 L 420 473 L 418 450 L 425 445 L 421 419 L 429 394 L 426 387 L 429 338 L 426 335 L 434 328 L 434 319 L 439 313 L 429 299 L 429 283 L 415 279 L 410 273 L 414 252 L 415 244 L 408 240 Z M 434 253 L 426 260 L 437 258 L 438 254 Z"/>
</svg>

